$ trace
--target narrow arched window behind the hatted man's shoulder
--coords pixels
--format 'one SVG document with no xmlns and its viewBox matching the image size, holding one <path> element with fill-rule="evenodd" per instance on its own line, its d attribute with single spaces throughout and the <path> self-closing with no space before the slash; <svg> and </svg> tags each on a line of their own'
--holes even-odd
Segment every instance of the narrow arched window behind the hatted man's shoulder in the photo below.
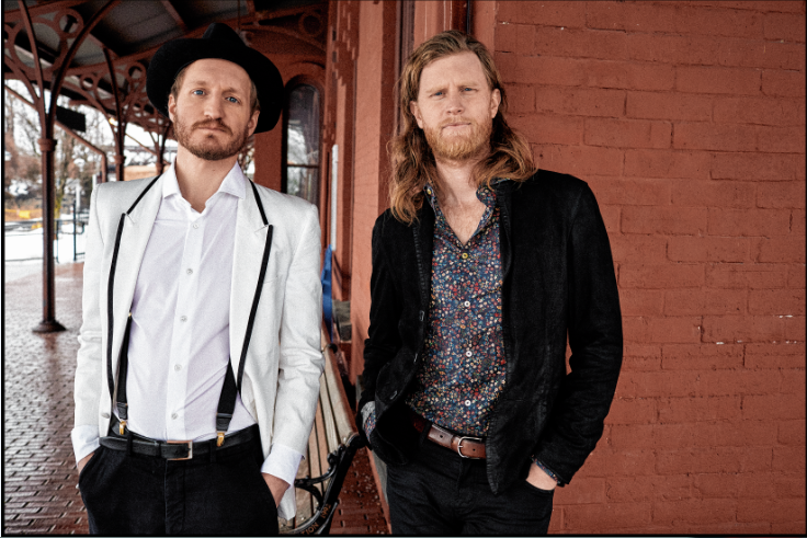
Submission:
<svg viewBox="0 0 807 538">
<path fill-rule="evenodd" d="M 319 198 L 319 92 L 300 84 L 288 94 L 284 192 L 317 205 Z"/>
</svg>

